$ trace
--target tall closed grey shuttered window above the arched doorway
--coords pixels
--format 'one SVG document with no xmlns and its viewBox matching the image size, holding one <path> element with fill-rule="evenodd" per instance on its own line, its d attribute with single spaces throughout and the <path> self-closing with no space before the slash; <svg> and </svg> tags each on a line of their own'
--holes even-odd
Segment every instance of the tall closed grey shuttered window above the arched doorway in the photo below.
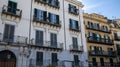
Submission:
<svg viewBox="0 0 120 67">
<path fill-rule="evenodd" d="M 15 26 L 5 24 L 3 40 L 6 42 L 13 42 Z"/>
</svg>

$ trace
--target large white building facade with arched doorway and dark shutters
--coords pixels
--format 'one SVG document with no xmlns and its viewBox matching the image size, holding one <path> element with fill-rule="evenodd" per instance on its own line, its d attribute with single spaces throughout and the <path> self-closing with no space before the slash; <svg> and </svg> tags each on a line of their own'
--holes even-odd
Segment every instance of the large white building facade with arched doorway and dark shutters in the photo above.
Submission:
<svg viewBox="0 0 120 67">
<path fill-rule="evenodd" d="M 1 0 L 0 67 L 88 67 L 82 3 Z"/>
</svg>

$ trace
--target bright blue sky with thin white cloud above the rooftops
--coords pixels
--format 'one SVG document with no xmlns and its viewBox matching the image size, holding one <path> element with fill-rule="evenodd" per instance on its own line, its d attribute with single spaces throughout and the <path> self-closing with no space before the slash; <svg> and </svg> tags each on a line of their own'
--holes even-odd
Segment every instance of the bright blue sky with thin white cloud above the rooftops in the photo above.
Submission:
<svg viewBox="0 0 120 67">
<path fill-rule="evenodd" d="M 109 19 L 120 19 L 120 0 L 79 0 L 86 13 L 97 13 Z"/>
</svg>

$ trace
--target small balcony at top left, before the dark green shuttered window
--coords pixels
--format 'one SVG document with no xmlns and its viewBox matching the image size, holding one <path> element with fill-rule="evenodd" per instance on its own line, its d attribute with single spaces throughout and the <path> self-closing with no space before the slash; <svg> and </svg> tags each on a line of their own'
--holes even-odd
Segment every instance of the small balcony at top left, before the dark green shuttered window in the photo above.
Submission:
<svg viewBox="0 0 120 67">
<path fill-rule="evenodd" d="M 9 6 L 5 6 L 3 5 L 3 8 L 2 8 L 2 15 L 6 15 L 6 16 L 14 16 L 14 17 L 17 17 L 17 18 L 21 18 L 22 16 L 22 10 L 20 9 L 14 9 L 14 8 L 11 8 Z"/>
</svg>

